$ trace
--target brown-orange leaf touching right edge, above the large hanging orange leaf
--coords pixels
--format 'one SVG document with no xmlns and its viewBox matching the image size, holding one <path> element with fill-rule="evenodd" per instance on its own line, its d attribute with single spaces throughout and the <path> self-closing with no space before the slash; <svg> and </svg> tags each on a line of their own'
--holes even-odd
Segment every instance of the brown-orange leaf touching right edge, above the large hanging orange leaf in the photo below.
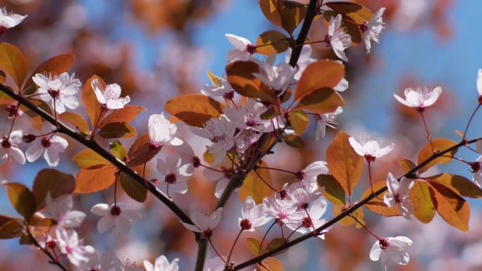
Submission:
<svg viewBox="0 0 482 271">
<path fill-rule="evenodd" d="M 466 196 L 469 198 L 482 197 L 482 189 L 463 176 L 442 173 L 426 177 L 426 179 L 429 179 L 428 182 L 437 182 L 439 184 L 443 184 L 445 187 L 454 191 L 459 196 Z"/>
</svg>

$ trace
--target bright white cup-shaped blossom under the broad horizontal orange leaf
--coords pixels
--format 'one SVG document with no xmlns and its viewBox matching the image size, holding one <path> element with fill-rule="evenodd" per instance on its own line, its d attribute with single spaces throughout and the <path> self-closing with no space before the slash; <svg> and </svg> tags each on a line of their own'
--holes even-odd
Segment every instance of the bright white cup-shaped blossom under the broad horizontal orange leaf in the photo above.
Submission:
<svg viewBox="0 0 482 271">
<path fill-rule="evenodd" d="M 181 139 L 175 137 L 178 126 L 169 122 L 164 113 L 149 116 L 149 146 L 151 148 L 161 148 L 163 145 L 180 146 L 183 144 Z"/>
</svg>

